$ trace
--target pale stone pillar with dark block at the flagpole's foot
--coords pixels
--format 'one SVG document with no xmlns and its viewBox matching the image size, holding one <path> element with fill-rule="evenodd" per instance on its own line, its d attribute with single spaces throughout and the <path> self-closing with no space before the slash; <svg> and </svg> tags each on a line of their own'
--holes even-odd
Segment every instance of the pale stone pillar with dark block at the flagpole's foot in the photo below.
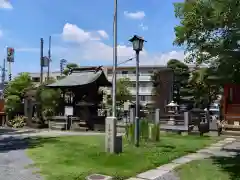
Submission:
<svg viewBox="0 0 240 180">
<path fill-rule="evenodd" d="M 117 136 L 116 117 L 107 117 L 105 121 L 105 151 L 108 153 L 122 152 L 122 136 Z"/>
</svg>

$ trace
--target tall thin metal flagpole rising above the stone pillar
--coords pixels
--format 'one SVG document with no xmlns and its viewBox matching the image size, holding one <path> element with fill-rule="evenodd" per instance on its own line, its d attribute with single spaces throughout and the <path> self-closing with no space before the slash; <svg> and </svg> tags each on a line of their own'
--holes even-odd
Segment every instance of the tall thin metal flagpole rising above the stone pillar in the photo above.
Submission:
<svg viewBox="0 0 240 180">
<path fill-rule="evenodd" d="M 117 0 L 114 0 L 113 22 L 113 82 L 112 82 L 112 116 L 116 117 L 116 83 L 117 83 Z"/>
</svg>

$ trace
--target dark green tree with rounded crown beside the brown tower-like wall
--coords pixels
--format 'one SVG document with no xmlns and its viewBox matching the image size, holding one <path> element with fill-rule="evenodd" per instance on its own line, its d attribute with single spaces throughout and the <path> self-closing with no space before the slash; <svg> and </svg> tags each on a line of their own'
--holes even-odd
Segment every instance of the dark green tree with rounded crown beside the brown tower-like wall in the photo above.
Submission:
<svg viewBox="0 0 240 180">
<path fill-rule="evenodd" d="M 174 73 L 173 100 L 174 102 L 180 104 L 181 97 L 188 95 L 188 92 L 190 91 L 188 88 L 188 80 L 190 75 L 189 68 L 185 63 L 177 59 L 169 60 L 167 67 L 171 68 Z"/>
</svg>

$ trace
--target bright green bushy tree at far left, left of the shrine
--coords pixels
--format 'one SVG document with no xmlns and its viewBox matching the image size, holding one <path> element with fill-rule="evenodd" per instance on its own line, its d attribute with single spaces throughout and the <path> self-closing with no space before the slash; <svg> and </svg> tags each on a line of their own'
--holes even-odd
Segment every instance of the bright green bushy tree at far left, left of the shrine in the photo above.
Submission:
<svg viewBox="0 0 240 180">
<path fill-rule="evenodd" d="M 25 92 L 32 87 L 32 80 L 28 73 L 21 73 L 8 83 L 4 90 L 4 107 L 10 117 L 21 111 Z"/>
</svg>

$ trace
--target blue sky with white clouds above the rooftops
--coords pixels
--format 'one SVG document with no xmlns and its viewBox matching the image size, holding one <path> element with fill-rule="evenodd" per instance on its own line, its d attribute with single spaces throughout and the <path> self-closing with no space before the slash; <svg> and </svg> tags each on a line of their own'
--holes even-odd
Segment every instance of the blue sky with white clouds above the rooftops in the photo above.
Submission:
<svg viewBox="0 0 240 180">
<path fill-rule="evenodd" d="M 165 64 L 183 59 L 183 49 L 173 46 L 173 3 L 180 0 L 119 0 L 119 61 L 133 55 L 128 39 L 138 34 L 147 43 L 141 64 Z M 114 0 L 0 0 L 0 64 L 5 47 L 15 48 L 13 74 L 38 72 L 40 38 L 47 55 L 52 36 L 51 69 L 59 60 L 85 65 L 111 65 Z M 130 62 L 134 63 L 134 62 Z"/>
</svg>

